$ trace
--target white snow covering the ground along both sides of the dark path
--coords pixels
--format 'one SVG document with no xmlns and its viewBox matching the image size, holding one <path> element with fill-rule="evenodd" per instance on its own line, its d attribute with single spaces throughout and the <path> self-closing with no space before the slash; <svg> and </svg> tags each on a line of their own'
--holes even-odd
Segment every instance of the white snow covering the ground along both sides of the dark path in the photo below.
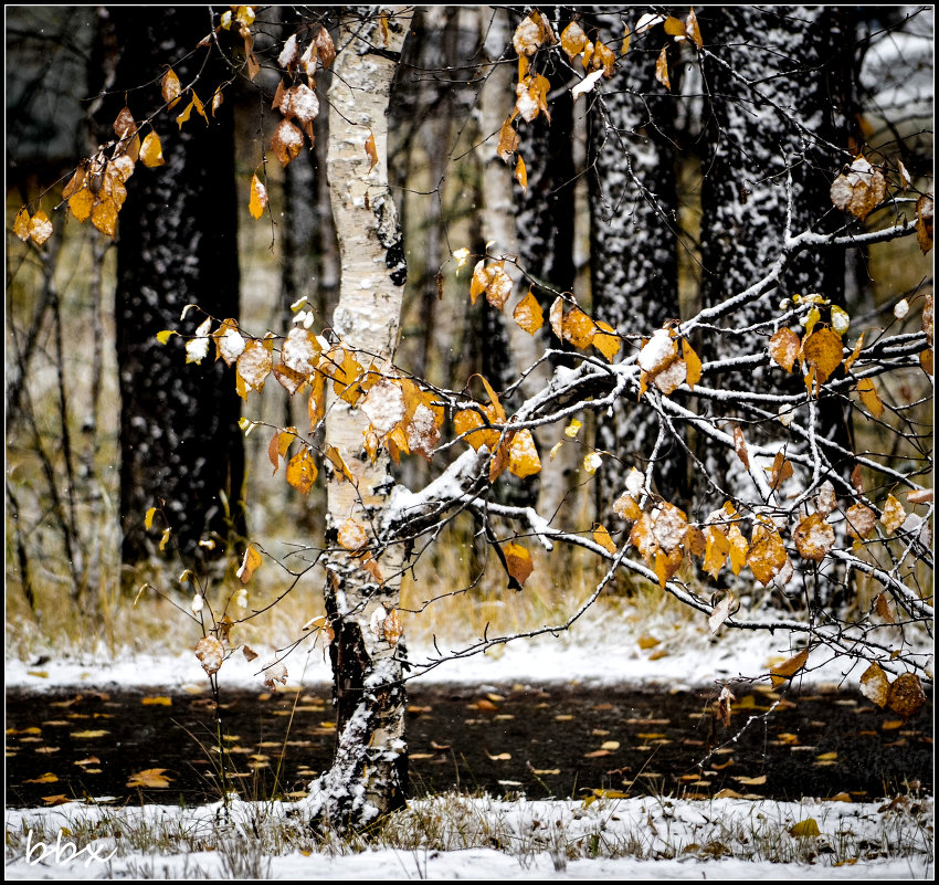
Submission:
<svg viewBox="0 0 939 885">
<path fill-rule="evenodd" d="M 485 655 L 447 662 L 420 678 L 476 685 L 563 682 L 690 688 L 758 676 L 793 653 L 782 638 L 728 634 L 714 642 L 706 631 L 688 625 L 679 630 L 668 625 L 660 625 L 657 630 L 646 628 L 644 644 L 650 644 L 650 636 L 658 640 L 651 647 L 641 647 L 641 638 L 635 634 L 603 644 L 598 642 L 595 632 L 600 626 L 593 623 L 582 628 L 591 632 L 591 642 L 584 642 L 584 636 L 577 633 L 517 642 Z M 619 635 L 623 636 L 622 630 Z M 428 651 L 412 650 L 411 656 L 423 661 Z M 856 686 L 863 667 L 851 668 L 843 660 L 822 659 L 821 653 L 817 660 L 810 659 L 811 672 L 805 681 Z M 223 688 L 247 685 L 261 688 L 257 664 L 263 660 L 249 664 L 236 654 L 226 661 L 220 671 Z M 292 683 L 329 679 L 319 650 L 308 655 L 295 654 L 286 663 Z M 7 685 L 30 691 L 158 685 L 162 691 L 172 691 L 187 685 L 204 687 L 205 677 L 191 653 L 156 659 L 127 655 L 117 662 L 8 661 Z M 426 801 L 432 800 L 422 800 Z M 420 818 L 424 813 L 422 802 L 410 803 L 408 814 Z M 251 821 L 256 821 L 259 814 L 268 823 L 302 821 L 303 803 L 273 803 L 263 809 L 236 803 L 229 821 L 220 816 L 217 805 L 116 811 L 70 803 L 50 809 L 7 810 L 6 873 L 8 878 L 17 879 L 930 878 L 932 800 L 917 799 L 915 813 L 909 801 L 904 802 L 903 807 L 812 799 L 801 803 L 737 799 L 678 802 L 666 797 L 645 797 L 603 798 L 584 804 L 572 800 L 506 803 L 487 797 L 450 797 L 446 805 L 434 812 L 439 821 L 443 820 L 440 825 L 444 830 L 451 828 L 458 835 L 472 822 L 485 833 L 496 833 L 493 837 L 497 839 L 498 849 L 479 847 L 487 844 L 486 839 L 467 847 L 454 835 L 449 851 L 428 849 L 414 839 L 409 849 L 383 847 L 356 853 L 350 853 L 347 846 L 327 852 L 316 850 L 315 845 L 296 849 L 282 836 L 274 840 L 277 847 L 268 851 L 256 847 L 256 840 L 245 841 L 240 835 L 254 832 Z M 102 831 L 106 834 L 97 836 L 95 822 L 101 815 L 107 815 L 108 824 Z M 160 826 L 172 831 L 177 847 L 165 849 L 169 853 L 159 849 L 140 853 L 128 849 L 129 840 L 115 840 L 116 825 L 129 828 L 129 832 L 141 818 L 148 821 L 145 829 L 149 832 Z M 817 835 L 790 834 L 793 825 L 809 819 L 816 822 Z M 409 820 L 402 825 L 416 826 L 408 823 Z M 213 850 L 199 850 L 199 840 L 193 834 L 212 828 Z M 223 835 L 229 833 L 229 842 L 218 842 L 220 828 Z M 308 828 L 299 826 L 298 832 L 307 833 Z M 186 849 L 178 847 L 181 833 Z M 71 850 L 66 847 L 70 836 L 75 840 Z M 43 850 L 38 847 L 41 841 L 45 842 Z M 244 847 L 250 844 L 255 847 Z M 407 839 L 398 844 L 408 844 Z M 229 850 L 225 845 L 242 847 Z M 584 845 L 606 849 L 598 852 L 600 856 L 590 858 Z M 115 849 L 117 853 L 105 861 Z M 32 852 L 28 857 L 29 850 Z M 74 851 L 83 853 L 68 861 Z M 584 854 L 588 857 L 581 858 Z"/>
</svg>

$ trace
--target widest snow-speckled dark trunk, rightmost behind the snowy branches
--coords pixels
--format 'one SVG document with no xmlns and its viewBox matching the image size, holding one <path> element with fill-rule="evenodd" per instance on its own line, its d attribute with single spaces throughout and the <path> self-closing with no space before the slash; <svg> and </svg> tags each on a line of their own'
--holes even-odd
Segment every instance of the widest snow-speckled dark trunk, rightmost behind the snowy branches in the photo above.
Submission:
<svg viewBox="0 0 939 885">
<path fill-rule="evenodd" d="M 742 292 L 770 270 L 783 238 L 806 229 L 819 232 L 840 223 L 829 189 L 851 155 L 848 108 L 852 97 L 852 14 L 836 8 L 711 8 L 699 15 L 714 56 L 704 66 L 713 96 L 703 158 L 701 261 L 705 307 Z M 734 99 L 727 96 L 738 95 Z M 796 256 L 781 285 L 722 320 L 746 329 L 781 313 L 780 299 L 820 293 L 842 304 L 843 250 L 806 251 Z M 761 333 L 714 334 L 701 341 L 703 359 L 753 352 Z M 724 383 L 756 390 L 804 392 L 802 379 L 778 368 L 728 372 Z M 823 405 L 823 408 L 827 408 Z M 823 433 L 846 442 L 840 408 L 822 415 Z M 784 435 L 780 425 L 773 429 Z M 706 475 L 720 489 L 698 499 L 719 506 L 724 493 L 752 495 L 746 472 L 732 453 L 708 446 L 701 453 Z M 845 473 L 850 472 L 850 465 Z"/>
</svg>

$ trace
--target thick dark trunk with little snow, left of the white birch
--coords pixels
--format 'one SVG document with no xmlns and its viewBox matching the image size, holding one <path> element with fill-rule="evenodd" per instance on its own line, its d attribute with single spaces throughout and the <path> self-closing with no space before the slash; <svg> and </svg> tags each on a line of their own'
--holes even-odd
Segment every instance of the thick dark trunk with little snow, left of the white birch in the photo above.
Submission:
<svg viewBox="0 0 939 885">
<path fill-rule="evenodd" d="M 125 99 L 137 120 L 155 114 L 162 104 L 159 74 L 165 65 L 172 64 L 186 86 L 207 53 L 196 92 L 209 108 L 215 86 L 230 71 L 215 64 L 211 49 L 189 55 L 211 31 L 207 8 L 113 7 L 106 15 L 109 22 L 104 24 L 118 53 L 114 82 L 122 92 L 102 102 L 97 119 L 103 128 Z M 224 541 L 230 529 L 243 533 L 244 454 L 232 378 L 223 361 L 210 362 L 211 354 L 201 367 L 183 369 L 183 339 L 173 336 L 163 346 L 156 338 L 161 329 L 180 327 L 187 304 L 219 319 L 238 317 L 231 106 L 230 99 L 218 114 L 210 113 L 208 125 L 193 113 L 181 128 L 175 117 L 183 103 L 176 112 L 156 113 L 152 125 L 166 165 L 146 169 L 138 164 L 120 212 L 115 310 L 125 566 L 154 555 L 144 514 L 161 501 L 189 561 L 204 550 L 200 538 L 214 534 Z M 182 326 L 194 329 L 202 318 L 192 312 Z"/>
</svg>

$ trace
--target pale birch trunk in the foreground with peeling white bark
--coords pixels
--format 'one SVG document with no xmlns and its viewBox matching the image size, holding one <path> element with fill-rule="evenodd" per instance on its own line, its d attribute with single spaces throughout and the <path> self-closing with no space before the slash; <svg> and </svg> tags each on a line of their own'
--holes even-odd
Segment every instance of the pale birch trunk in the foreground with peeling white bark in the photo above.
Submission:
<svg viewBox="0 0 939 885">
<path fill-rule="evenodd" d="M 329 88 L 327 177 L 341 267 L 333 328 L 366 368 L 374 360 L 381 370 L 390 369 L 394 354 L 407 271 L 388 187 L 387 113 L 411 14 L 403 7 L 390 14 L 372 8 L 346 10 Z M 366 146 L 371 138 L 370 158 Z M 391 548 L 378 559 L 384 579 L 379 582 L 361 559 L 336 544 L 348 519 L 374 540 L 369 527 L 392 485 L 387 454 L 379 453 L 374 464 L 365 454 L 368 424 L 361 410 L 330 396 L 326 441 L 339 451 L 356 482 L 340 482 L 334 474 L 327 492 L 333 549 L 325 596 L 335 632 L 329 651 L 337 741 L 333 766 L 315 787 L 321 813 L 340 830 L 361 828 L 403 804 L 408 777 L 403 646 L 389 642 L 391 634 L 382 629 L 399 602 L 401 557 Z"/>
</svg>

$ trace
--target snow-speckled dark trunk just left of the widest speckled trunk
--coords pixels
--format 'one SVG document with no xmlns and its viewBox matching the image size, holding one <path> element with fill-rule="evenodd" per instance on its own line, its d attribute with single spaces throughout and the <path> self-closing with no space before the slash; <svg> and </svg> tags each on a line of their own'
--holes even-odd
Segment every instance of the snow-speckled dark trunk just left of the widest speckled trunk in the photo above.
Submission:
<svg viewBox="0 0 939 885">
<path fill-rule="evenodd" d="M 599 24 L 609 43 L 622 33 L 618 19 L 600 17 Z M 593 313 L 622 333 L 645 336 L 678 318 L 675 99 L 655 81 L 660 49 L 650 41 L 633 46 L 590 112 Z M 620 357 L 633 352 L 625 347 Z M 599 473 L 601 514 L 623 491 L 630 467 L 645 471 L 658 438 L 658 415 L 647 404 L 620 402 L 600 420 L 598 449 L 622 462 Z M 685 491 L 686 471 L 683 451 L 666 431 L 653 470 L 666 501 Z"/>
</svg>

